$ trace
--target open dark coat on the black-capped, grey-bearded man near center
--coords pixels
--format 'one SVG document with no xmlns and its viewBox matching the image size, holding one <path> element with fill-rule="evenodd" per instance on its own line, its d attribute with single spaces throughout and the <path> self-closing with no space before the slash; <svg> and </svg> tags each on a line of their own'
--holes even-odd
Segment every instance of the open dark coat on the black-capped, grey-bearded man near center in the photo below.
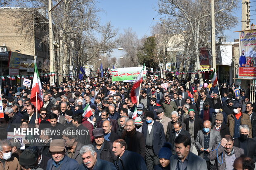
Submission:
<svg viewBox="0 0 256 170">
<path fill-rule="evenodd" d="M 164 128 L 163 128 L 163 125 L 157 121 L 154 121 L 153 126 L 154 126 L 153 151 L 155 155 L 158 155 L 159 150 L 163 147 L 165 142 Z M 146 140 L 147 139 L 147 123 L 143 123 L 142 133 L 144 134 L 145 140 Z"/>
</svg>

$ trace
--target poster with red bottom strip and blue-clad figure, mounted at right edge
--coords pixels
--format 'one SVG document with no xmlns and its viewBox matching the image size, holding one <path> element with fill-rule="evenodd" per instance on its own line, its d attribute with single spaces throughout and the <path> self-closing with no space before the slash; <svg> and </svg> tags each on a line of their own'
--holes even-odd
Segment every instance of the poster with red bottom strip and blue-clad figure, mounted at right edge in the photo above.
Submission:
<svg viewBox="0 0 256 170">
<path fill-rule="evenodd" d="M 241 31 L 239 36 L 239 79 L 256 79 L 256 30 Z"/>
</svg>

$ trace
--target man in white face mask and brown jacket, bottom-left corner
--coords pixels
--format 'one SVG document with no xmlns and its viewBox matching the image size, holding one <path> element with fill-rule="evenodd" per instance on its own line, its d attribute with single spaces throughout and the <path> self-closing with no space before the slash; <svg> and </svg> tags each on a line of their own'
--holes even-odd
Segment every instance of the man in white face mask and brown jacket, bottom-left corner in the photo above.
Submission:
<svg viewBox="0 0 256 170">
<path fill-rule="evenodd" d="M 12 145 L 8 140 L 0 140 L 0 169 L 21 170 L 19 161 L 12 156 Z"/>
</svg>

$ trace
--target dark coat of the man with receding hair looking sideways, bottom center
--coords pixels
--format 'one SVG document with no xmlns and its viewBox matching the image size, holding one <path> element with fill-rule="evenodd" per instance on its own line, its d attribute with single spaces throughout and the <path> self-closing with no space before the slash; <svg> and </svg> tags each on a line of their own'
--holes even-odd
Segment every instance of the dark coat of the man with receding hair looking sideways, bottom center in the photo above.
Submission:
<svg viewBox="0 0 256 170">
<path fill-rule="evenodd" d="M 115 166 L 118 170 L 147 170 L 146 163 L 139 154 L 125 150 L 120 159 L 116 159 Z M 123 168 L 124 167 L 124 168 Z"/>
</svg>

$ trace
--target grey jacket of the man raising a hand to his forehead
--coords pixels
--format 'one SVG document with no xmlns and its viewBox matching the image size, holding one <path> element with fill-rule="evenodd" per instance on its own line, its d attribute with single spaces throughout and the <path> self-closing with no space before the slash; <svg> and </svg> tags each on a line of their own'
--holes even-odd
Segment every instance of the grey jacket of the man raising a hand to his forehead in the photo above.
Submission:
<svg viewBox="0 0 256 170">
<path fill-rule="evenodd" d="M 211 161 L 215 161 L 215 166 L 214 166 L 214 170 L 225 170 L 226 169 L 226 164 L 225 164 L 225 156 L 223 156 L 223 163 L 219 163 L 217 160 L 217 149 L 218 148 L 218 160 L 221 162 L 221 154 L 224 154 L 224 150 L 225 148 L 220 144 L 218 147 L 218 144 L 216 144 L 213 147 L 213 150 L 211 150 L 211 152 L 209 153 L 209 159 Z M 239 156 L 241 156 L 242 154 L 244 154 L 244 149 L 238 148 L 238 147 L 234 147 L 234 153 L 235 153 L 235 157 L 238 158 Z"/>
</svg>

